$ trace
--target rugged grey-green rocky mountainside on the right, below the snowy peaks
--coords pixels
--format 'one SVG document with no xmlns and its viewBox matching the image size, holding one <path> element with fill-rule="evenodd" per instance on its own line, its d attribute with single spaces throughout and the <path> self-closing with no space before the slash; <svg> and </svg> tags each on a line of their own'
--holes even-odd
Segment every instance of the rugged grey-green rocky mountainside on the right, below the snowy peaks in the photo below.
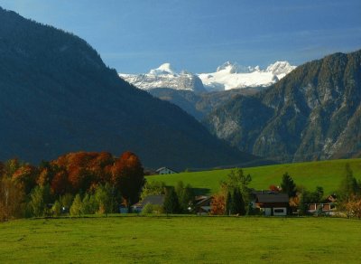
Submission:
<svg viewBox="0 0 361 264">
<path fill-rule="evenodd" d="M 278 161 L 360 156 L 361 51 L 301 65 L 253 97 L 227 101 L 205 124 L 234 146 Z"/>
</svg>

